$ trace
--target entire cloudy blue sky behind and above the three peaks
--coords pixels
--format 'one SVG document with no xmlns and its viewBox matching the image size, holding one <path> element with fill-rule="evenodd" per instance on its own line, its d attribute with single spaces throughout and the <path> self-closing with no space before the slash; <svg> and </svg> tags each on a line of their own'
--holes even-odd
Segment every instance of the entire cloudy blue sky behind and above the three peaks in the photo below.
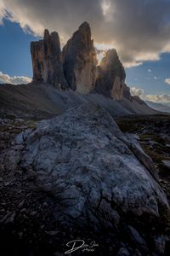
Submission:
<svg viewBox="0 0 170 256">
<path fill-rule="evenodd" d="M 83 21 L 98 48 L 115 48 L 133 95 L 170 102 L 170 0 L 0 0 L 0 83 L 31 81 L 30 42 L 44 28 L 61 45 Z"/>
</svg>

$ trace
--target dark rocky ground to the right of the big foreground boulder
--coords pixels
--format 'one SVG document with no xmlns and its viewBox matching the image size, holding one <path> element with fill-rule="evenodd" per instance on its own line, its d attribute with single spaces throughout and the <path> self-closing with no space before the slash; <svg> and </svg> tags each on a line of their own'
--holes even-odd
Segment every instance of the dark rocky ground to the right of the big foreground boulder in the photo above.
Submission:
<svg viewBox="0 0 170 256">
<path fill-rule="evenodd" d="M 136 134 L 144 151 L 154 160 L 161 186 L 170 201 L 170 115 L 129 116 L 116 119 L 123 132 Z"/>
</svg>

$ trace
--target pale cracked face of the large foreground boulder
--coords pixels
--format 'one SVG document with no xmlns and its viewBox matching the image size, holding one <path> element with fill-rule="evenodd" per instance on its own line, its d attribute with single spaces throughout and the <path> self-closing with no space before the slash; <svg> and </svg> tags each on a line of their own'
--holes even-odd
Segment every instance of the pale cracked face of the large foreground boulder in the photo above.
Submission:
<svg viewBox="0 0 170 256">
<path fill-rule="evenodd" d="M 36 173 L 37 188 L 53 193 L 61 223 L 112 227 L 120 209 L 159 217 L 160 207 L 169 211 L 167 197 L 123 140 L 109 113 L 84 104 L 28 133 L 20 166 Z"/>
</svg>

